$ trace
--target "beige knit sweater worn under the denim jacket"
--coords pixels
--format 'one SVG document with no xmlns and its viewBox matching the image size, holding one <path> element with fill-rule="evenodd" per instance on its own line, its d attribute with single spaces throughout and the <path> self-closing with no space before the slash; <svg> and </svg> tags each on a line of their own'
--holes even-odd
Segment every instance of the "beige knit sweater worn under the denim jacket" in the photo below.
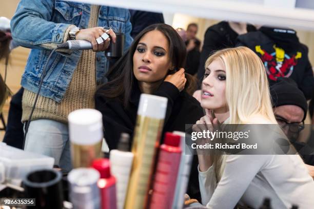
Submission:
<svg viewBox="0 0 314 209">
<path fill-rule="evenodd" d="M 92 6 L 88 28 L 97 26 L 100 6 Z M 96 53 L 92 50 L 83 50 L 78 65 L 74 70 L 72 80 L 60 103 L 39 96 L 31 120 L 51 119 L 62 123 L 68 122 L 70 112 L 83 108 L 94 109 L 94 92 L 96 90 Z M 29 118 L 36 93 L 25 90 L 22 99 L 22 121 Z"/>
</svg>

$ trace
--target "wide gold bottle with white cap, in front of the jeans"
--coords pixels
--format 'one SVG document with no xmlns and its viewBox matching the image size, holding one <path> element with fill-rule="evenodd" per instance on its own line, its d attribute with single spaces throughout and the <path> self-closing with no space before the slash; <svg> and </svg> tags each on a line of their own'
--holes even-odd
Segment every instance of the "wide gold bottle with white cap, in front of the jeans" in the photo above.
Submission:
<svg viewBox="0 0 314 209">
<path fill-rule="evenodd" d="M 73 168 L 88 168 L 94 159 L 101 157 L 102 114 L 97 110 L 81 109 L 71 112 L 68 119 Z"/>
</svg>

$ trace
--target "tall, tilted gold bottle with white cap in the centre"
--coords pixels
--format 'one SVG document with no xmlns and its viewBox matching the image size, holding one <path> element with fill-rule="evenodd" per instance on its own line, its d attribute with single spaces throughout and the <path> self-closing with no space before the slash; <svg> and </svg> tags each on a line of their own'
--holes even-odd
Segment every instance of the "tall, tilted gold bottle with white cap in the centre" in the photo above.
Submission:
<svg viewBox="0 0 314 209">
<path fill-rule="evenodd" d="M 134 160 L 125 208 L 144 208 L 167 110 L 167 98 L 142 94 L 136 118 L 132 153 Z"/>
</svg>

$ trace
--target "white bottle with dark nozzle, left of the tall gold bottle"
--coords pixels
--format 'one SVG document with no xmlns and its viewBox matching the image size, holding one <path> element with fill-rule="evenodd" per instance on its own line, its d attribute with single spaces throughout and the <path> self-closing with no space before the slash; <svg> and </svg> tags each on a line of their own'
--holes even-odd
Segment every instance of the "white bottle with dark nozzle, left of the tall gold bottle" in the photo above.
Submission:
<svg viewBox="0 0 314 209">
<path fill-rule="evenodd" d="M 111 150 L 109 155 L 111 174 L 116 179 L 118 209 L 124 207 L 134 157 L 134 154 L 129 152 L 129 140 L 129 134 L 122 133 L 117 150 Z"/>
</svg>

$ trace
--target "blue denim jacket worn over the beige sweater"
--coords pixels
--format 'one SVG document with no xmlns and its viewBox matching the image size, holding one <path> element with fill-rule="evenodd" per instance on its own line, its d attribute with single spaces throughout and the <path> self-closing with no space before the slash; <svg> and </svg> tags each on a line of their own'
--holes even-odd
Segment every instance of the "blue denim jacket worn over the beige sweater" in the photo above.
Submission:
<svg viewBox="0 0 314 209">
<path fill-rule="evenodd" d="M 32 48 L 27 60 L 21 85 L 32 92 L 37 92 L 40 77 L 51 50 L 47 44 L 61 44 L 67 29 L 77 26 L 88 27 L 90 5 L 60 0 L 21 0 L 11 20 L 14 41 L 23 47 Z M 101 6 L 98 26 L 111 27 L 115 32 L 125 34 L 125 50 L 129 48 L 130 13 L 127 9 Z M 53 46 L 53 45 L 52 45 Z M 51 47 L 50 47 L 51 49 Z M 53 53 L 47 63 L 46 76 L 43 81 L 41 96 L 60 102 L 72 79 L 74 69 L 82 51 L 74 51 L 69 56 Z M 97 83 L 105 80 L 108 60 L 104 52 L 96 53 Z"/>
</svg>

